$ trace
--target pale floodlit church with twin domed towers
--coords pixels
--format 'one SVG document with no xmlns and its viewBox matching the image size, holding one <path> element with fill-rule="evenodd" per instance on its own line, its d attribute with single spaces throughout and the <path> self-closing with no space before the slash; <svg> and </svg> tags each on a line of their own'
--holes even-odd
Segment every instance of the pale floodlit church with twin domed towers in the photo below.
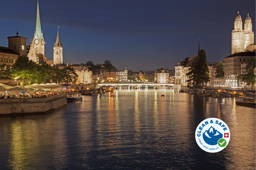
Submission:
<svg viewBox="0 0 256 170">
<path fill-rule="evenodd" d="M 234 22 L 234 30 L 232 30 L 232 54 L 245 51 L 246 46 L 254 44 L 254 32 L 252 31 L 252 20 L 249 17 L 245 19 L 244 30 L 242 18 L 239 12 Z"/>
</svg>

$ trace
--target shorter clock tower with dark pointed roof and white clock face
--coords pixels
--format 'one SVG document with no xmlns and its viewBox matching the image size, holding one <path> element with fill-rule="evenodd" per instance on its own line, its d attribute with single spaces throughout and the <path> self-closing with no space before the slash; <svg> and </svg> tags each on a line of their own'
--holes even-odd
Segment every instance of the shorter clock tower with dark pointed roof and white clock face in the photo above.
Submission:
<svg viewBox="0 0 256 170">
<path fill-rule="evenodd" d="M 56 39 L 56 42 L 53 47 L 53 63 L 54 64 L 62 64 L 63 63 L 62 44 L 60 43 L 59 28 L 58 28 L 57 39 Z"/>
</svg>

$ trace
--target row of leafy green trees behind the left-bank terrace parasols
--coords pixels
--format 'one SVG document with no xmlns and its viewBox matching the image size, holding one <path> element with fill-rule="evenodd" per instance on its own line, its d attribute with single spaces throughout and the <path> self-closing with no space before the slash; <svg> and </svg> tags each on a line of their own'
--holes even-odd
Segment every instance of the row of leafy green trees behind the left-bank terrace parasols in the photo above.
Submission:
<svg viewBox="0 0 256 170">
<path fill-rule="evenodd" d="M 5 68 L 5 69 L 4 69 Z M 72 67 L 64 67 L 63 69 L 55 68 L 45 62 L 41 65 L 29 60 L 25 55 L 18 56 L 12 68 L 6 65 L 1 65 L 1 78 L 2 79 L 23 79 L 22 85 L 26 79 L 30 79 L 29 84 L 36 82 L 41 83 L 75 83 L 78 75 Z"/>
</svg>

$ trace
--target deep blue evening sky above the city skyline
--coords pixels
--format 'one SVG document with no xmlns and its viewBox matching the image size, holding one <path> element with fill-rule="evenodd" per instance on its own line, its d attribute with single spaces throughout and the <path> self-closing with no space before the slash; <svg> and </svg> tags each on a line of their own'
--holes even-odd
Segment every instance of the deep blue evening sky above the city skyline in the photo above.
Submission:
<svg viewBox="0 0 256 170">
<path fill-rule="evenodd" d="M 63 61 L 85 63 L 105 60 L 119 70 L 169 69 L 200 48 L 215 62 L 231 55 L 231 32 L 237 11 L 243 25 L 247 13 L 255 32 L 255 0 L 39 0 L 45 56 L 53 60 L 59 26 Z M 0 46 L 6 37 L 27 38 L 36 27 L 37 0 L 10 0 L 0 6 Z M 255 38 L 254 38 L 255 40 Z"/>
</svg>

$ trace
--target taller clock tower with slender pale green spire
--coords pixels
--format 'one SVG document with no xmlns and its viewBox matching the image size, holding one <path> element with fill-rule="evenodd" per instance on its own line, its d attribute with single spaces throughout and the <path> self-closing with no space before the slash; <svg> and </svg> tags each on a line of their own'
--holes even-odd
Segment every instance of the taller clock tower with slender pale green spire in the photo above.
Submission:
<svg viewBox="0 0 256 170">
<path fill-rule="evenodd" d="M 36 31 L 34 33 L 34 38 L 32 40 L 33 47 L 37 54 L 44 55 L 44 37 L 43 32 L 41 31 L 41 24 L 40 24 L 40 16 L 39 16 L 39 6 L 37 1 L 37 14 L 36 14 Z"/>
</svg>

